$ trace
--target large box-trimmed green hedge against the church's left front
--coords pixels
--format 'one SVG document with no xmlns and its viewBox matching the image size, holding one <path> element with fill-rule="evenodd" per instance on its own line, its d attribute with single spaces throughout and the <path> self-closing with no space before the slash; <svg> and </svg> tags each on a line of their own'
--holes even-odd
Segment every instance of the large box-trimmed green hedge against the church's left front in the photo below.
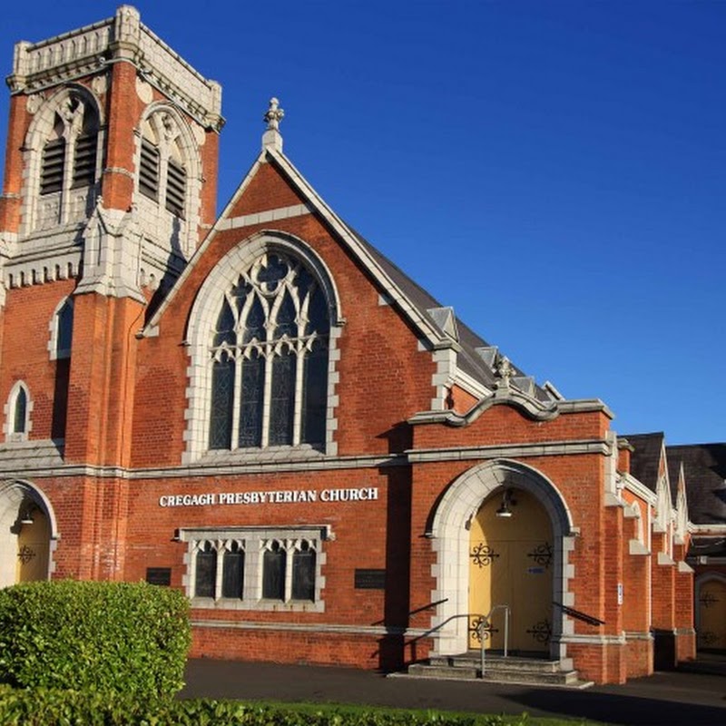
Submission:
<svg viewBox="0 0 726 726">
<path fill-rule="evenodd" d="M 168 588 L 67 580 L 0 590 L 0 682 L 19 688 L 170 697 L 190 643 L 189 604 Z"/>
</svg>

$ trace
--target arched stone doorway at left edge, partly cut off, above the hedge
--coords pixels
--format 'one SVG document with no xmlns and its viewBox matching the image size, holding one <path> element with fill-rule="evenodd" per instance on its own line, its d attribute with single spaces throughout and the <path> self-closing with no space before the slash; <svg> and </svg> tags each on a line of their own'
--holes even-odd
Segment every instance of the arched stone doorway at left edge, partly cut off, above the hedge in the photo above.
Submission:
<svg viewBox="0 0 726 726">
<path fill-rule="evenodd" d="M 55 521 L 43 493 L 23 481 L 0 485 L 0 587 L 47 580 Z"/>
</svg>

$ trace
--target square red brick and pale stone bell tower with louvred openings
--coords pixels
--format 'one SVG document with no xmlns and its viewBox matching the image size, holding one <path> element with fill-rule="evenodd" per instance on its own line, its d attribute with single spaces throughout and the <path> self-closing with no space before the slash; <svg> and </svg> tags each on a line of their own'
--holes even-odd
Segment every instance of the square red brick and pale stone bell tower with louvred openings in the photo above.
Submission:
<svg viewBox="0 0 726 726">
<path fill-rule="evenodd" d="M 65 463 L 126 466 L 134 334 L 215 218 L 221 87 L 129 5 L 16 44 L 7 84 L 5 441 L 54 441 Z M 25 422 L 9 398 L 18 386 Z"/>
</svg>

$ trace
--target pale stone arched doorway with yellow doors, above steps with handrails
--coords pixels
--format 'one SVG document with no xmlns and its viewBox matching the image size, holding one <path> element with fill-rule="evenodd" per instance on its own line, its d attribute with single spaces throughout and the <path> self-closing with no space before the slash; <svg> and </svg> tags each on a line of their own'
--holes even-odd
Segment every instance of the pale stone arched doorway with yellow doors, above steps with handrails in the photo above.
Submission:
<svg viewBox="0 0 726 726">
<path fill-rule="evenodd" d="M 497 517 L 505 502 L 511 516 Z M 501 522 L 495 524 L 497 520 Z M 429 535 L 437 558 L 437 588 L 432 593 L 432 601 L 438 603 L 432 623 L 437 633 L 434 652 L 465 652 L 477 643 L 466 615 L 486 612 L 487 605 L 508 604 L 512 624 L 521 631 L 515 641 L 520 651 L 566 657 L 565 615 L 553 603 L 573 600 L 568 556 L 574 548 L 574 530 L 564 498 L 552 481 L 530 466 L 505 459 L 474 466 L 458 476 L 439 500 Z M 518 572 L 502 585 L 504 591 L 497 590 L 498 585 L 493 589 L 491 579 L 482 588 L 473 574 L 478 569 L 474 560 L 477 556 L 486 560 L 487 546 L 504 543 L 509 549 L 507 558 L 515 557 Z M 500 592 L 507 592 L 510 602 L 493 602 L 493 595 L 505 597 Z M 539 642 L 526 630 L 535 631 Z M 501 647 L 496 638 L 492 645 Z"/>
</svg>

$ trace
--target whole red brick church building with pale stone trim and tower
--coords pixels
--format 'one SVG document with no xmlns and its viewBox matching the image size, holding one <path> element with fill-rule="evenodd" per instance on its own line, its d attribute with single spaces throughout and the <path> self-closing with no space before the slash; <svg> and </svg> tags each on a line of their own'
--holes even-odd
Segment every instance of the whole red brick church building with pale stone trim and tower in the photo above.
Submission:
<svg viewBox="0 0 726 726">
<path fill-rule="evenodd" d="M 217 217 L 221 88 L 132 7 L 17 44 L 8 83 L 0 586 L 180 588 L 197 656 L 484 642 L 623 682 L 694 655 L 662 438 L 537 385 L 348 227 L 275 99 Z"/>
</svg>

